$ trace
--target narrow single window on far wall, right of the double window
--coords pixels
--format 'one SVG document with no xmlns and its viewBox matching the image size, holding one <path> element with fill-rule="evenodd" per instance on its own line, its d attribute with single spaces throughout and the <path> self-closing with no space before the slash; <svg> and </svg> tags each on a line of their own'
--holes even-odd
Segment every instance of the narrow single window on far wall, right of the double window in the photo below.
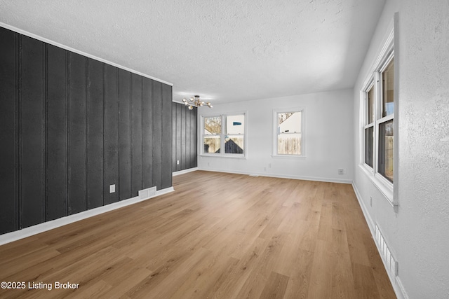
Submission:
<svg viewBox="0 0 449 299">
<path fill-rule="evenodd" d="M 273 155 L 304 156 L 303 109 L 274 111 Z"/>
</svg>

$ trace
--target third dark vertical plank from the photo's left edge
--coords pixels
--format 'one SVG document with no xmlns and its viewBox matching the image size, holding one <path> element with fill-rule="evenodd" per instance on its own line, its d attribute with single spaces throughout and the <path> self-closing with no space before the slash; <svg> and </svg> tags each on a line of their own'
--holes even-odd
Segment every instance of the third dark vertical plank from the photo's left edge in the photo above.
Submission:
<svg viewBox="0 0 449 299">
<path fill-rule="evenodd" d="M 46 220 L 67 216 L 67 51 L 47 50 Z"/>
</svg>

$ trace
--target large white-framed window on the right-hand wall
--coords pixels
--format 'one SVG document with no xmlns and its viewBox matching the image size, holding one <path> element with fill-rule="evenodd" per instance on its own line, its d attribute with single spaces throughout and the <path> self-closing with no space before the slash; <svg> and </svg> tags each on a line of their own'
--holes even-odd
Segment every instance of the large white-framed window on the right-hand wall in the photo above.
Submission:
<svg viewBox="0 0 449 299">
<path fill-rule="evenodd" d="M 394 46 L 389 36 L 373 73 L 363 88 L 363 159 L 375 183 L 392 198 L 394 183 Z M 397 79 L 396 79 L 397 80 Z M 380 186 L 381 185 L 381 186 Z M 383 189 L 382 189 L 383 188 Z"/>
</svg>

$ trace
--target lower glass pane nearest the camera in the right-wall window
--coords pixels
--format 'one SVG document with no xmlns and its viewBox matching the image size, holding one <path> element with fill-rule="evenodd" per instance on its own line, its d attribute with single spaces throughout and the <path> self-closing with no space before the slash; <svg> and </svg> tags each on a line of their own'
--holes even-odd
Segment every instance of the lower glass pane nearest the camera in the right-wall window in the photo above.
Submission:
<svg viewBox="0 0 449 299">
<path fill-rule="evenodd" d="M 393 137 L 394 122 L 389 120 L 379 125 L 379 173 L 393 182 Z"/>
</svg>

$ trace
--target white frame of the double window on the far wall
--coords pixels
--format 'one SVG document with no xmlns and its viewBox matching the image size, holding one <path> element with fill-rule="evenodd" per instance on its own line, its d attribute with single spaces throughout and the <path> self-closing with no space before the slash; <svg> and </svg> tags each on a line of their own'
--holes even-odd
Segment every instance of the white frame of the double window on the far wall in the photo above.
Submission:
<svg viewBox="0 0 449 299">
<path fill-rule="evenodd" d="M 244 118 L 244 128 L 243 134 L 238 134 L 243 136 L 243 154 L 242 153 L 225 153 L 225 139 L 227 136 L 227 132 L 226 132 L 226 118 L 227 116 L 243 116 Z M 221 158 L 246 158 L 246 155 L 248 153 L 248 134 L 247 134 L 247 130 L 248 130 L 248 124 L 247 124 L 247 116 L 248 113 L 246 111 L 244 112 L 232 112 L 232 113 L 220 113 L 220 114 L 210 114 L 210 115 L 203 115 L 200 118 L 201 124 L 199 125 L 200 128 L 200 136 L 201 138 L 199 139 L 199 147 L 201 148 L 201 156 L 203 157 L 221 157 Z M 220 117 L 222 120 L 222 125 L 221 125 L 221 132 L 220 134 L 215 134 L 215 135 L 210 135 L 210 136 L 220 136 L 220 153 L 204 153 L 204 137 L 206 137 L 207 135 L 204 134 L 204 118 L 213 118 L 213 117 Z M 233 134 L 234 135 L 234 134 Z"/>
</svg>

